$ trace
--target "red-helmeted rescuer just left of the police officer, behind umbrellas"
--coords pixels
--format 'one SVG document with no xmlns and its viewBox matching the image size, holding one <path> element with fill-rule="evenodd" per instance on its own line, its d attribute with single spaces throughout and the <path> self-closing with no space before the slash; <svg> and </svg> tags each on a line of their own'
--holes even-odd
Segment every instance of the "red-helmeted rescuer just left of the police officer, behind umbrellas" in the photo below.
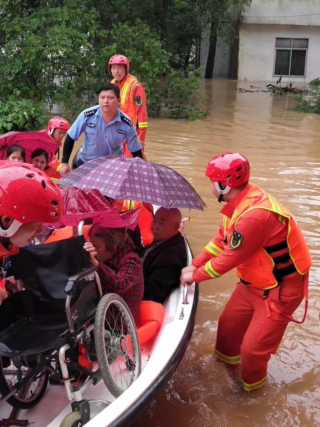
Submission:
<svg viewBox="0 0 320 427">
<path fill-rule="evenodd" d="M 49 137 L 55 141 L 55 143 L 58 145 L 58 149 L 57 149 L 57 153 L 58 153 L 59 148 L 62 145 L 62 140 L 65 137 L 68 129 L 70 129 L 68 120 L 64 119 L 63 117 L 52 117 L 52 119 L 50 119 L 48 123 L 48 130 L 43 129 L 40 132 L 47 132 Z M 60 167 L 61 167 L 61 162 L 58 161 L 55 155 L 53 155 L 51 160 L 48 162 L 47 166 L 45 167 L 44 172 L 53 181 L 57 181 L 59 178 L 61 178 L 61 175 L 59 172 Z"/>
</svg>

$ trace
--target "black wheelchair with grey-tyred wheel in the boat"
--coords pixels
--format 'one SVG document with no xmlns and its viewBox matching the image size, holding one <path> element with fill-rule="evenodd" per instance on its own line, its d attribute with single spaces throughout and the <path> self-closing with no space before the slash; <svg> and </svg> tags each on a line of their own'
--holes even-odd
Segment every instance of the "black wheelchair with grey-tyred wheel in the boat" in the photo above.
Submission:
<svg viewBox="0 0 320 427">
<path fill-rule="evenodd" d="M 19 409 L 35 406 L 51 378 L 75 400 L 81 426 L 90 419 L 82 398 L 88 387 L 103 379 L 116 398 L 141 373 L 134 319 L 119 295 L 102 296 L 97 268 L 83 249 L 83 225 L 78 236 L 13 255 L 16 289 L 0 306 L 0 407 L 4 401 Z M 87 364 L 79 363 L 81 356 Z M 95 363 L 97 370 L 88 369 Z M 82 375 L 84 383 L 72 386 Z M 75 415 L 72 420 L 78 425 Z"/>
</svg>

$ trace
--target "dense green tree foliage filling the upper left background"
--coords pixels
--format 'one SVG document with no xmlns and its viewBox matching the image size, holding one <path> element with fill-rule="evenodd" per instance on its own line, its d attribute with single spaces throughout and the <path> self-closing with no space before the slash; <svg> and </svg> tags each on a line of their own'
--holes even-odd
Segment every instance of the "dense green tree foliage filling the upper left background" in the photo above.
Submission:
<svg viewBox="0 0 320 427">
<path fill-rule="evenodd" d="M 96 102 L 96 90 L 110 79 L 108 59 L 124 53 L 145 85 L 149 112 L 160 109 L 163 76 L 167 88 L 172 80 L 166 99 L 183 105 L 181 85 L 198 92 L 199 76 L 182 70 L 192 60 L 203 17 L 210 12 L 219 23 L 233 2 L 246 0 L 3 0 L 0 99 L 16 91 L 17 101 L 59 104 L 73 116 Z"/>
</svg>

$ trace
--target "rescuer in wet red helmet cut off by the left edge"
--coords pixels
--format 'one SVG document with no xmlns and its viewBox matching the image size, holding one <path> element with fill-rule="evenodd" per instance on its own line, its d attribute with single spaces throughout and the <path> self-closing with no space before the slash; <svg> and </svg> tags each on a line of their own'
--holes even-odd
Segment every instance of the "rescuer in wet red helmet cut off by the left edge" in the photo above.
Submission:
<svg viewBox="0 0 320 427">
<path fill-rule="evenodd" d="M 15 254 L 42 223 L 55 223 L 62 213 L 59 188 L 43 172 L 18 162 L 0 161 L 0 258 Z M 6 298 L 0 281 L 0 304 Z"/>
</svg>

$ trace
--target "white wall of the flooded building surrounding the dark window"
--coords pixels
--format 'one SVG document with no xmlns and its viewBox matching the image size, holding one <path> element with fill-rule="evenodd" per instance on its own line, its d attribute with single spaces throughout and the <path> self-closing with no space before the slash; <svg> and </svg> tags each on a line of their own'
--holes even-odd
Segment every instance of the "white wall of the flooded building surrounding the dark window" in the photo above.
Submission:
<svg viewBox="0 0 320 427">
<path fill-rule="evenodd" d="M 319 11 L 318 13 L 320 13 L 320 0 L 317 0 L 317 2 L 319 2 L 317 10 Z M 271 0 L 266 0 L 265 3 L 282 3 L 282 1 L 274 0 L 271 2 Z M 296 3 L 296 1 L 283 0 L 283 3 Z M 306 2 L 300 1 L 299 3 Z M 310 3 L 312 3 L 311 0 Z M 307 13 L 307 11 L 308 9 L 304 10 L 305 13 Z M 266 11 L 264 13 L 266 13 Z M 286 9 L 286 14 L 288 15 L 289 13 L 291 14 L 292 12 Z M 272 14 L 269 12 L 269 15 Z M 320 15 L 318 16 L 320 20 Z M 273 76 L 277 37 L 309 39 L 305 76 L 282 77 L 282 82 L 288 82 L 293 78 L 295 84 L 305 84 L 312 79 L 320 77 L 320 23 L 318 25 L 319 26 L 301 26 L 241 23 L 239 26 L 238 79 L 259 82 L 265 81 L 268 83 L 274 82 L 277 79 L 277 77 Z"/>
</svg>

